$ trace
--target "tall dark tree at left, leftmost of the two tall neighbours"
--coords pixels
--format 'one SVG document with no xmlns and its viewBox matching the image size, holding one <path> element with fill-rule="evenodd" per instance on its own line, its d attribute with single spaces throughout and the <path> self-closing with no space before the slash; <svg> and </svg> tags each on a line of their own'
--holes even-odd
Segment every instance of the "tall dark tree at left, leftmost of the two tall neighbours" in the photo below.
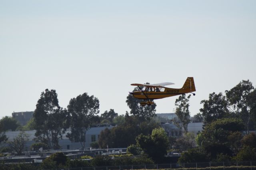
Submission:
<svg viewBox="0 0 256 170">
<path fill-rule="evenodd" d="M 58 140 L 66 130 L 64 128 L 66 115 L 66 109 L 59 106 L 56 91 L 46 89 L 41 93 L 33 115 L 36 125 L 35 135 L 41 139 L 46 138 L 50 148 L 58 149 L 60 147 Z"/>
</svg>

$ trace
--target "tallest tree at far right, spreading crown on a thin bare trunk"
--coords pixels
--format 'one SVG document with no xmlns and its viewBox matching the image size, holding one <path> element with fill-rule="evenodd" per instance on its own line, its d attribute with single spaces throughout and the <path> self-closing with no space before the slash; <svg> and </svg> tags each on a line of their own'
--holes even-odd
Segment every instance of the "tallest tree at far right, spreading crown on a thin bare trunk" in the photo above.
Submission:
<svg viewBox="0 0 256 170">
<path fill-rule="evenodd" d="M 253 96 L 250 95 L 253 89 L 252 82 L 242 80 L 238 85 L 230 89 L 230 91 L 225 91 L 228 99 L 228 108 L 231 113 L 238 115 L 243 120 L 244 126 L 246 127 L 246 134 L 249 134 L 250 131 L 249 125 L 253 114 L 252 105 L 256 103 L 256 101 L 253 102 L 254 104 L 252 103 Z"/>
</svg>

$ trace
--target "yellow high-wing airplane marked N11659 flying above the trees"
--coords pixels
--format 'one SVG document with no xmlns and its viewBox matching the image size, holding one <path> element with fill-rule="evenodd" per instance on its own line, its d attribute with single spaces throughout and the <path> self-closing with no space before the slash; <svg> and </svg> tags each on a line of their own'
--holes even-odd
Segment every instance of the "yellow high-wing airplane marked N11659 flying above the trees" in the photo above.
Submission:
<svg viewBox="0 0 256 170">
<path fill-rule="evenodd" d="M 153 99 L 162 99 L 165 97 L 172 97 L 176 95 L 181 95 L 184 93 L 192 93 L 196 91 L 195 83 L 194 83 L 194 78 L 193 77 L 188 77 L 183 85 L 182 88 L 180 89 L 173 89 L 173 88 L 168 88 L 164 87 L 166 85 L 173 85 L 174 83 L 158 83 L 158 84 L 131 84 L 133 86 L 138 86 L 140 91 L 134 91 L 134 92 L 129 92 L 132 94 L 135 98 L 137 99 L 144 99 L 148 100 L 146 102 L 140 102 L 140 105 L 152 105 L 154 102 L 150 101 Z M 193 95 L 196 95 L 195 93 L 192 93 Z"/>
</svg>

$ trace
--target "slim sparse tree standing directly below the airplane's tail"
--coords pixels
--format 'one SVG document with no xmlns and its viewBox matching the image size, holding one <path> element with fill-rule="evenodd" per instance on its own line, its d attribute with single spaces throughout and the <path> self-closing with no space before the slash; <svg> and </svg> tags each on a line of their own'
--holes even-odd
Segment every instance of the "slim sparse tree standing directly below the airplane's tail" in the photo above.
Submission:
<svg viewBox="0 0 256 170">
<path fill-rule="evenodd" d="M 175 101 L 175 114 L 178 117 L 178 122 L 175 124 L 179 126 L 179 124 L 182 125 L 184 128 L 185 132 L 188 132 L 188 123 L 190 123 L 190 112 L 189 112 L 189 98 L 191 95 L 188 95 L 186 97 L 186 94 L 182 94 L 179 96 L 178 99 Z"/>
</svg>

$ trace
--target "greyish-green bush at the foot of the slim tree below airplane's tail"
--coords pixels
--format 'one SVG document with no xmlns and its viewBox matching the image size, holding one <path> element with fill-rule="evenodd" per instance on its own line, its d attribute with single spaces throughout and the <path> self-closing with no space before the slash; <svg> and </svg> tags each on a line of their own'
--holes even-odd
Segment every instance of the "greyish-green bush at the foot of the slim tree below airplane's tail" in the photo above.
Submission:
<svg viewBox="0 0 256 170">
<path fill-rule="evenodd" d="M 188 150 L 190 148 L 194 148 L 196 146 L 196 136 L 194 133 L 187 132 L 176 139 L 174 144 L 174 148 L 180 151 Z"/>
</svg>

